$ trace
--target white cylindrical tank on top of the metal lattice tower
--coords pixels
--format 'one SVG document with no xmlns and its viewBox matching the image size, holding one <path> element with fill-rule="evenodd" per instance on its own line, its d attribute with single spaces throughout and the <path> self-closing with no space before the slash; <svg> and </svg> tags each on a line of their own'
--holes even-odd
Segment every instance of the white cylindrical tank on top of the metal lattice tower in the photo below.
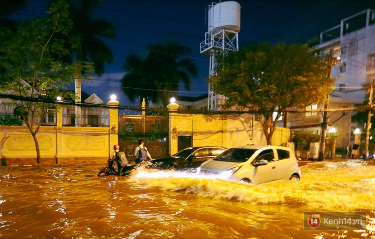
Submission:
<svg viewBox="0 0 375 239">
<path fill-rule="evenodd" d="M 208 9 L 208 32 L 212 34 L 220 28 L 240 31 L 241 6 L 236 1 L 224 1 L 210 5 Z"/>
</svg>

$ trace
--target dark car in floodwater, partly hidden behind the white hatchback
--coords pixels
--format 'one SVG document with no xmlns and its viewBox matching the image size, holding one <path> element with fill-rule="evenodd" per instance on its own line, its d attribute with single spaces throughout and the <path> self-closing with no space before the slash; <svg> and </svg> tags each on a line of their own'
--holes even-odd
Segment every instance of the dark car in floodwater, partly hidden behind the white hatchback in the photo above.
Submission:
<svg viewBox="0 0 375 239">
<path fill-rule="evenodd" d="M 190 147 L 166 158 L 158 158 L 151 161 L 154 168 L 162 170 L 195 170 L 204 161 L 212 159 L 224 152 L 223 147 Z"/>
</svg>

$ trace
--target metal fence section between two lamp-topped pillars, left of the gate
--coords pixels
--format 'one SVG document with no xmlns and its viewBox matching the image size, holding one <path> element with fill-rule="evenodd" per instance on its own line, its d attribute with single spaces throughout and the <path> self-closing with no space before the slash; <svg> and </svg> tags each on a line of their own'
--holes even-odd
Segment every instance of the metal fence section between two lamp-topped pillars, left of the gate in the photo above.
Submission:
<svg viewBox="0 0 375 239">
<path fill-rule="evenodd" d="M 110 110 L 106 108 L 91 108 L 69 106 L 62 108 L 63 126 L 109 127 Z"/>
</svg>

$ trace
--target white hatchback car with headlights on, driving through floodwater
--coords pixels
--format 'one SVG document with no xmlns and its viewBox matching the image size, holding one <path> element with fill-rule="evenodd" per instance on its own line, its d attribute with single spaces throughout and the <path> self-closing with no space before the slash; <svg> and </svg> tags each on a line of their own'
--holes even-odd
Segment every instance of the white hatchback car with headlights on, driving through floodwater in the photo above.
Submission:
<svg viewBox="0 0 375 239">
<path fill-rule="evenodd" d="M 287 147 L 247 145 L 227 149 L 206 161 L 197 173 L 218 175 L 220 179 L 261 184 L 279 180 L 299 180 L 296 156 Z"/>
</svg>

